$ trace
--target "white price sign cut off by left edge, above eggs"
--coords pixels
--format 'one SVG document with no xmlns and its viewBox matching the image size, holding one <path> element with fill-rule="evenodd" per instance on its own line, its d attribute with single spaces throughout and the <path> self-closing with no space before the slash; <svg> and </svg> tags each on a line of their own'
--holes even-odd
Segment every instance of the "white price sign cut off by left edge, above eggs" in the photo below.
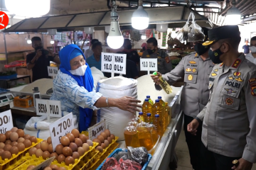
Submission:
<svg viewBox="0 0 256 170">
<path fill-rule="evenodd" d="M 11 128 L 14 128 L 11 110 L 0 113 L 0 133 L 6 133 Z"/>
</svg>

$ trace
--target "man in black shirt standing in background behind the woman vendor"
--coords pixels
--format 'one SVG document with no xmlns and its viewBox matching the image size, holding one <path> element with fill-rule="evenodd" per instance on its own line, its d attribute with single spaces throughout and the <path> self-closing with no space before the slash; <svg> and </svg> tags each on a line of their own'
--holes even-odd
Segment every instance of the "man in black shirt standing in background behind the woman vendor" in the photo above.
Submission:
<svg viewBox="0 0 256 170">
<path fill-rule="evenodd" d="M 42 40 L 39 37 L 33 37 L 31 39 L 32 47 L 35 52 L 26 56 L 27 68 L 33 71 L 33 81 L 48 77 L 48 66 L 50 61 L 60 64 L 60 58 L 53 54 L 52 51 L 43 49 Z"/>
</svg>

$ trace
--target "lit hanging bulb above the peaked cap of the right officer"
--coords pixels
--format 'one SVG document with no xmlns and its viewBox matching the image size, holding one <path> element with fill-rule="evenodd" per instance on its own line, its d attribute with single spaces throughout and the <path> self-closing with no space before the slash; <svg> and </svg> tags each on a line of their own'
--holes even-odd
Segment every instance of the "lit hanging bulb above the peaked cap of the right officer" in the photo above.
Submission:
<svg viewBox="0 0 256 170">
<path fill-rule="evenodd" d="M 226 25 L 238 25 L 241 21 L 241 13 L 238 8 L 235 7 L 235 0 L 232 1 L 232 8 L 227 11 L 225 18 Z"/>
</svg>

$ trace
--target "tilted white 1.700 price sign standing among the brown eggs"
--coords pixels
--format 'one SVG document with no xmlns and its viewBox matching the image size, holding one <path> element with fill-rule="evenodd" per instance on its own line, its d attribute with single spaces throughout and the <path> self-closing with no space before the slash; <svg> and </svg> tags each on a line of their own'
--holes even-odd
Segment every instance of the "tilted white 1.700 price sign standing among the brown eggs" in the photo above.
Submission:
<svg viewBox="0 0 256 170">
<path fill-rule="evenodd" d="M 67 135 L 74 129 L 73 113 L 65 115 L 63 118 L 56 120 L 54 123 L 50 123 L 50 137 L 53 143 L 53 151 L 55 147 L 60 144 L 60 138 Z"/>
</svg>

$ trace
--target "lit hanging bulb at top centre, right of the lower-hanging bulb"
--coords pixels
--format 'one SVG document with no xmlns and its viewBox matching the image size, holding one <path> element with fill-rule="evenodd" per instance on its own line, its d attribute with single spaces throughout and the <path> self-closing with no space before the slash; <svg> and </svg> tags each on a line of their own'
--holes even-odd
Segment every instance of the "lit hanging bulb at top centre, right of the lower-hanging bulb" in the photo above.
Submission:
<svg viewBox="0 0 256 170">
<path fill-rule="evenodd" d="M 139 0 L 139 7 L 132 13 L 132 27 L 137 30 L 144 30 L 149 26 L 149 15 L 142 4 L 142 0 Z"/>
</svg>

